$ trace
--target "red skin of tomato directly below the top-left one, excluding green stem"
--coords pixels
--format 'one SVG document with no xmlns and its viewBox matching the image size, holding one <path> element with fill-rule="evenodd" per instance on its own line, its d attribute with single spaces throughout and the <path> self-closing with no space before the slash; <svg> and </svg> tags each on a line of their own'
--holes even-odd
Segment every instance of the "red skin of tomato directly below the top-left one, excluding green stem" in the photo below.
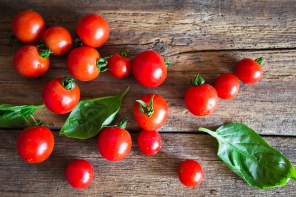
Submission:
<svg viewBox="0 0 296 197">
<path fill-rule="evenodd" d="M 13 58 L 14 69 L 22 76 L 36 78 L 49 68 L 49 58 L 42 58 L 35 45 L 26 45 L 18 49 Z"/>
</svg>

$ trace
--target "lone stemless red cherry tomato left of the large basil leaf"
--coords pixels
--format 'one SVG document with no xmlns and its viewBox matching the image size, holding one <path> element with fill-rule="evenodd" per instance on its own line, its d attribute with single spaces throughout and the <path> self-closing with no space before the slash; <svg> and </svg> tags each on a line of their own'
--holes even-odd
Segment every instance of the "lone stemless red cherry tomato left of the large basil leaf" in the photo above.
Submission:
<svg viewBox="0 0 296 197">
<path fill-rule="evenodd" d="M 198 162 L 194 160 L 185 160 L 178 168 L 179 180 L 186 187 L 195 187 L 203 179 L 203 169 Z"/>
</svg>

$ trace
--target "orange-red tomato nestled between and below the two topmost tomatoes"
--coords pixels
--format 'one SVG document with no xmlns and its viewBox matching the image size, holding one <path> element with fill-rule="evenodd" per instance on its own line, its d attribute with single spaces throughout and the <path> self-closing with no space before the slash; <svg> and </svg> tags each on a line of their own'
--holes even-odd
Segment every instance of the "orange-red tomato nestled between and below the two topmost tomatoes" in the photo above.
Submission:
<svg viewBox="0 0 296 197">
<path fill-rule="evenodd" d="M 71 33 L 67 29 L 58 26 L 47 28 L 42 33 L 41 39 L 55 56 L 65 55 L 73 45 Z"/>
</svg>

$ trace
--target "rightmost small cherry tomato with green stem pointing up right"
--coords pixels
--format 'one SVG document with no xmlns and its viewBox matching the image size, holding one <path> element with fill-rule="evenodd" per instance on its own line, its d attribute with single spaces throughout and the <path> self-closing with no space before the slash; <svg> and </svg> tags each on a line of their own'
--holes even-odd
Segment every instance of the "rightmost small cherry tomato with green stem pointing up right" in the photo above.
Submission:
<svg viewBox="0 0 296 197">
<path fill-rule="evenodd" d="M 244 83 L 253 84 L 258 82 L 262 76 L 262 67 L 264 58 L 252 60 L 245 58 L 240 60 L 235 66 L 235 74 Z"/>
</svg>

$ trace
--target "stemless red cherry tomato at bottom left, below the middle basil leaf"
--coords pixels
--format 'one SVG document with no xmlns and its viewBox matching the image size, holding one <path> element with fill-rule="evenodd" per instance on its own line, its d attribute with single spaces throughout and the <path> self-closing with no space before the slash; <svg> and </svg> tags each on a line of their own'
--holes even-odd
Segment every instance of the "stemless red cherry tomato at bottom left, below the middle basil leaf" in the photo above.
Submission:
<svg viewBox="0 0 296 197">
<path fill-rule="evenodd" d="M 94 168 L 86 160 L 75 160 L 67 166 L 65 176 L 72 187 L 83 189 L 91 184 L 94 178 Z"/>
</svg>

